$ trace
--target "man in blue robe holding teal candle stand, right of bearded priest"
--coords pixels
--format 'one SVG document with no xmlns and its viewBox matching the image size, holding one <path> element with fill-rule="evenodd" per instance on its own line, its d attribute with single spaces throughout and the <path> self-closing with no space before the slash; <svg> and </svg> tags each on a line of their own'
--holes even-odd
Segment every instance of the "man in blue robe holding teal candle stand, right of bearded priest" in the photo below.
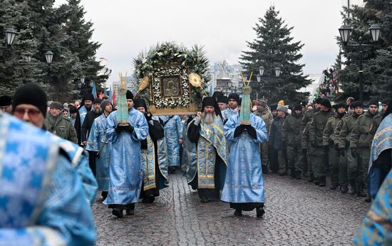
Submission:
<svg viewBox="0 0 392 246">
<path fill-rule="evenodd" d="M 230 150 L 221 200 L 230 203 L 234 215 L 256 209 L 257 217 L 262 217 L 265 195 L 259 144 L 267 140 L 268 134 L 262 118 L 250 113 L 250 106 L 248 84 L 243 88 L 240 116 L 229 117 L 225 124 Z"/>
</svg>

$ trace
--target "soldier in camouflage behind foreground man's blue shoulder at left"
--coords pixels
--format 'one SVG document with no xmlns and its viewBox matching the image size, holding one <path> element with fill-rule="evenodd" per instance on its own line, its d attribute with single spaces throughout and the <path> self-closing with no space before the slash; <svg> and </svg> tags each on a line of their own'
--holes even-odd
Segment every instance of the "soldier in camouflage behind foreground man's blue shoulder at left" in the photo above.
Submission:
<svg viewBox="0 0 392 246">
<path fill-rule="evenodd" d="M 58 135 L 60 138 L 64 138 L 73 143 L 78 143 L 78 138 L 76 137 L 76 130 L 69 118 L 64 118 L 61 111 L 63 106 L 61 103 L 53 102 L 49 106 L 50 110 L 46 114 L 44 125 L 46 130 Z"/>
</svg>

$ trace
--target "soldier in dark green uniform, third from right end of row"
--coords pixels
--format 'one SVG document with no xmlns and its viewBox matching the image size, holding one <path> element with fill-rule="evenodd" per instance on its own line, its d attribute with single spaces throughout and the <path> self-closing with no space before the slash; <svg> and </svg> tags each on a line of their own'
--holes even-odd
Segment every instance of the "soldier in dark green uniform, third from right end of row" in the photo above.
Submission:
<svg viewBox="0 0 392 246">
<path fill-rule="evenodd" d="M 344 170 L 344 166 L 339 165 L 339 148 L 338 148 L 338 140 L 337 137 L 339 135 L 339 131 L 336 131 L 336 128 L 339 128 L 341 125 L 342 118 L 346 115 L 346 107 L 344 103 L 339 103 L 334 105 L 336 112 L 334 116 L 329 118 L 326 122 L 325 129 L 323 132 L 323 146 L 326 153 L 329 154 L 329 162 L 331 163 L 331 190 L 336 190 L 339 186 L 339 181 L 344 183 L 343 176 L 347 175 L 347 171 Z"/>
</svg>

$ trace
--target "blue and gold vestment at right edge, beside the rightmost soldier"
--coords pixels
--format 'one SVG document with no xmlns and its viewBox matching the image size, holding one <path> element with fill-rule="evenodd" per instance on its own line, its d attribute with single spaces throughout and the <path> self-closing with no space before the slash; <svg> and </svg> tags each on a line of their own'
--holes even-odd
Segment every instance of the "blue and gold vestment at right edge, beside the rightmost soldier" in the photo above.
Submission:
<svg viewBox="0 0 392 246">
<path fill-rule="evenodd" d="M 375 198 L 381 185 L 382 170 L 373 166 L 373 162 L 384 150 L 392 148 L 392 114 L 381 121 L 371 143 L 371 155 L 368 170 L 368 193 Z M 384 174 L 385 175 L 385 174 Z"/>
</svg>

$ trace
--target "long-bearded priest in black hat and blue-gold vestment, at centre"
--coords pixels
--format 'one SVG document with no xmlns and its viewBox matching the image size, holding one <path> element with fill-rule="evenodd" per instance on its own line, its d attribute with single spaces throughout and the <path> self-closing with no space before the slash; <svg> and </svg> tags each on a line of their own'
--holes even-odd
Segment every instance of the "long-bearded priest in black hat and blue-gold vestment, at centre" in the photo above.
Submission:
<svg viewBox="0 0 392 246">
<path fill-rule="evenodd" d="M 225 183 L 229 150 L 215 98 L 202 101 L 202 112 L 188 125 L 187 183 L 197 189 L 202 203 L 219 199 Z"/>
</svg>

